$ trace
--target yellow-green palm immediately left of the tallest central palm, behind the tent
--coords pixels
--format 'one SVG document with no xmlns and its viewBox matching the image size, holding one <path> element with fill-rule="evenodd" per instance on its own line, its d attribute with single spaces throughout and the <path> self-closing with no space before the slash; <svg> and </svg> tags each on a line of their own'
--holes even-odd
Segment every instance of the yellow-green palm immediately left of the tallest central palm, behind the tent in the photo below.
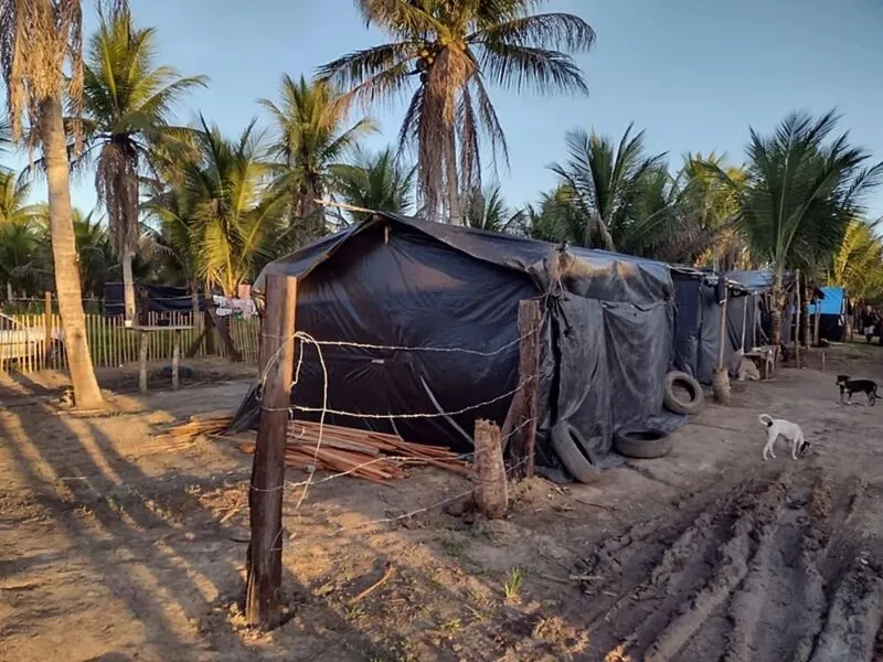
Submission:
<svg viewBox="0 0 883 662">
<path fill-rule="evenodd" d="M 345 127 L 348 100 L 327 82 L 308 83 L 283 76 L 280 103 L 260 99 L 273 116 L 276 140 L 270 154 L 277 160 L 275 186 L 286 192 L 291 205 L 289 225 L 298 228 L 300 245 L 325 234 L 325 214 L 316 202 L 325 197 L 330 170 L 360 138 L 375 131 L 371 118 Z"/>
</svg>

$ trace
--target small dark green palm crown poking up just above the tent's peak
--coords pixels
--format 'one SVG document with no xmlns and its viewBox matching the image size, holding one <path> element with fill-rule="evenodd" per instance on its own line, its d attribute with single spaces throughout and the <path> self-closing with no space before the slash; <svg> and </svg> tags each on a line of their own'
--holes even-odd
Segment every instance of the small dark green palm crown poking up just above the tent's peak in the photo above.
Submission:
<svg viewBox="0 0 883 662">
<path fill-rule="evenodd" d="M 392 149 L 377 153 L 358 150 L 351 163 L 330 168 L 332 188 L 344 203 L 360 210 L 407 214 L 414 200 L 414 168 L 396 162 Z M 361 221 L 365 212 L 354 211 Z"/>
</svg>

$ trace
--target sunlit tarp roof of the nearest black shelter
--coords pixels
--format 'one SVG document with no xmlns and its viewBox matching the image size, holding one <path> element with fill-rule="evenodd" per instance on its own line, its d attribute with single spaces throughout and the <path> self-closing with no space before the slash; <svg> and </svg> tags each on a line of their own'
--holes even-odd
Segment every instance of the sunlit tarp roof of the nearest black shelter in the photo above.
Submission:
<svg viewBox="0 0 883 662">
<path fill-rule="evenodd" d="M 384 223 L 389 224 L 390 232 L 396 232 L 396 227 L 416 232 L 472 258 L 530 274 L 540 281 L 545 275 L 543 261 L 555 248 L 555 244 L 549 242 L 376 212 L 361 224 L 341 229 L 270 263 L 256 279 L 254 289 L 263 290 L 267 274 L 287 274 L 297 278 L 309 276 L 350 238 Z M 579 263 L 578 274 L 574 274 L 576 282 L 568 284 L 568 289 L 574 293 L 640 305 L 668 298 L 673 291 L 670 276 L 672 267 L 666 263 L 577 246 L 571 246 L 568 250 Z M 700 271 L 695 274 L 700 275 Z"/>
</svg>

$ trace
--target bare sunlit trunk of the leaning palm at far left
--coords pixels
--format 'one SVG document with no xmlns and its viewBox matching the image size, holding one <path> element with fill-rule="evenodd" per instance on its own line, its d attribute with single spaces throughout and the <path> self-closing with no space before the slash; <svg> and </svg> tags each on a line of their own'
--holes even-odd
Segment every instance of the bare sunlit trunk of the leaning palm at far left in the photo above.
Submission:
<svg viewBox="0 0 883 662">
<path fill-rule="evenodd" d="M 83 312 L 74 224 L 71 217 L 71 172 L 67 166 L 62 105 L 57 98 L 46 98 L 40 104 L 40 135 L 49 186 L 55 290 L 58 295 L 58 312 L 64 329 L 64 350 L 71 370 L 74 402 L 81 409 L 94 409 L 102 406 L 103 398 L 86 341 L 86 316 Z"/>
</svg>

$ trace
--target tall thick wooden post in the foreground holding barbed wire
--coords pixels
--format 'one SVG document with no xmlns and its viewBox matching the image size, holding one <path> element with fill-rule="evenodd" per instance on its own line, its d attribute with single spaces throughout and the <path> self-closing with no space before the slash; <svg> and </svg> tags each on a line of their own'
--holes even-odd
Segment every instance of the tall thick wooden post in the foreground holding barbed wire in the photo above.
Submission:
<svg viewBox="0 0 883 662">
<path fill-rule="evenodd" d="M 279 624 L 283 576 L 283 487 L 285 437 L 295 357 L 297 280 L 267 276 L 267 314 L 260 337 L 264 384 L 260 423 L 248 491 L 252 538 L 248 545 L 248 583 L 245 618 L 265 629 Z"/>
</svg>

